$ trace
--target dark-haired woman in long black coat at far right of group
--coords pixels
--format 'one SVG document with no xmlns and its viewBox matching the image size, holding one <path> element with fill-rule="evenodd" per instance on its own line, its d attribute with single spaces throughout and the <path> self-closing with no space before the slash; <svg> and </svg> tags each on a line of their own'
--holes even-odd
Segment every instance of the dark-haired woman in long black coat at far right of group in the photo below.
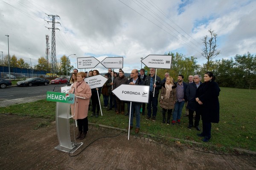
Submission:
<svg viewBox="0 0 256 170">
<path fill-rule="evenodd" d="M 211 138 L 211 123 L 219 122 L 220 106 L 218 96 L 220 88 L 215 82 L 215 76 L 212 72 L 204 74 L 204 83 L 196 90 L 195 100 L 197 101 L 196 111 L 200 112 L 203 132 L 198 136 L 204 137 L 202 141 L 208 142 Z"/>
</svg>

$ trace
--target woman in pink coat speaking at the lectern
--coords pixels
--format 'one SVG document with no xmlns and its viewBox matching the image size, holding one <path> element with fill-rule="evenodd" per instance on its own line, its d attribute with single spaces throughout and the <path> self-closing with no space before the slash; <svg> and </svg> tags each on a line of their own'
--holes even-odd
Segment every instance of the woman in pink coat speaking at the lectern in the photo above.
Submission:
<svg viewBox="0 0 256 170">
<path fill-rule="evenodd" d="M 76 139 L 84 139 L 88 131 L 88 108 L 90 97 L 92 95 L 90 86 L 84 81 L 84 72 L 78 72 L 76 75 L 77 81 L 73 84 L 70 89 L 70 93 L 75 94 L 75 103 L 71 104 L 71 112 L 73 119 L 77 120 L 79 133 L 76 135 Z"/>
</svg>

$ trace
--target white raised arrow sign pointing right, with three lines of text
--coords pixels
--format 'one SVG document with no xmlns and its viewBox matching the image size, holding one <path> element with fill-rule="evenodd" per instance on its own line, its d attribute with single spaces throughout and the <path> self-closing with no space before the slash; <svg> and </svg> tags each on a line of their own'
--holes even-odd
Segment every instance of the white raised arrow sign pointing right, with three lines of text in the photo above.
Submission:
<svg viewBox="0 0 256 170">
<path fill-rule="evenodd" d="M 94 57 L 83 57 L 77 58 L 77 68 L 78 69 L 90 69 L 94 68 L 99 64 L 99 60 Z"/>
</svg>

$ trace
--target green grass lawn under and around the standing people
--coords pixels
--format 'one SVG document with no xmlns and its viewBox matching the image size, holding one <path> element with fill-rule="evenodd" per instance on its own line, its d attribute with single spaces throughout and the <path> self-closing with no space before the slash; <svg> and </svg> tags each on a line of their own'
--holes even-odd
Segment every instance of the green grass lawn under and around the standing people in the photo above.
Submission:
<svg viewBox="0 0 256 170">
<path fill-rule="evenodd" d="M 102 101 L 102 96 L 101 96 Z M 204 148 L 223 152 L 232 152 L 233 148 L 241 148 L 256 151 L 256 90 L 221 88 L 220 96 L 220 122 L 212 124 L 212 138 L 204 143 Z M 103 101 L 101 102 L 103 104 Z M 125 104 L 125 108 L 127 105 Z M 13 113 L 22 116 L 46 118 L 48 121 L 55 120 L 55 102 L 41 100 L 29 104 L 17 104 L 9 107 L 0 107 L 1 113 Z M 126 109 L 127 110 L 127 109 Z M 157 121 L 146 120 L 146 115 L 141 115 L 140 131 L 151 134 L 160 141 L 172 142 L 179 138 L 181 143 L 189 143 L 184 140 L 201 142 L 195 128 L 187 128 L 188 118 L 183 117 L 180 125 L 167 125 L 162 123 L 162 109 L 158 107 Z M 112 127 L 128 127 L 128 116 L 116 115 L 113 110 L 106 111 L 102 107 L 103 116 L 90 117 L 89 122 L 104 124 Z M 183 113 L 185 108 L 183 108 Z M 45 123 L 44 123 L 45 124 Z M 134 125 L 136 124 L 134 118 Z M 200 121 L 201 127 L 201 121 Z M 135 135 L 134 130 L 131 134 Z"/>
</svg>

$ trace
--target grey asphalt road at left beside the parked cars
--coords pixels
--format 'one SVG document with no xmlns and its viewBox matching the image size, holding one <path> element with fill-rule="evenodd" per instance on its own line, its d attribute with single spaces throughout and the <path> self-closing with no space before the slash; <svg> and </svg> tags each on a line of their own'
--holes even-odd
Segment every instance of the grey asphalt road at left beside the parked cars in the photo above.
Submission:
<svg viewBox="0 0 256 170">
<path fill-rule="evenodd" d="M 67 84 L 49 84 L 47 86 L 8 86 L 6 89 L 0 89 L 0 101 L 12 100 L 17 98 L 30 98 L 39 95 L 46 95 L 47 91 L 52 91 L 55 87 L 55 92 L 61 92 L 60 87 L 66 86 Z"/>
</svg>

